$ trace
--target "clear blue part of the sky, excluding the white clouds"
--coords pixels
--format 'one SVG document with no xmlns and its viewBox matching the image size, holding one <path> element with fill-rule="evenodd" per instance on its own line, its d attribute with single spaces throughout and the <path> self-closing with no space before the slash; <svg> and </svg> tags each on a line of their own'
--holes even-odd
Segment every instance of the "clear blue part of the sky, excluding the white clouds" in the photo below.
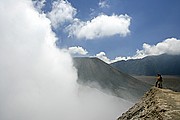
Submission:
<svg viewBox="0 0 180 120">
<path fill-rule="evenodd" d="M 64 0 L 56 1 L 57 5 L 60 4 L 60 1 L 62 2 Z M 47 15 L 50 14 L 57 7 L 52 7 L 54 2 L 54 0 L 46 0 L 43 3 L 44 7 L 42 11 Z M 113 60 L 116 57 L 139 56 L 137 55 L 137 50 L 143 52 L 142 54 L 144 56 L 146 56 L 145 54 L 153 55 L 152 52 L 151 54 L 149 52 L 147 53 L 146 45 L 152 48 L 153 46 L 157 46 L 158 43 L 164 43 L 165 40 L 171 38 L 178 41 L 179 46 L 179 0 L 68 0 L 64 1 L 64 3 L 73 8 L 74 13 L 71 13 L 72 18 L 66 19 L 63 24 L 59 22 L 58 24 L 60 25 L 57 24 L 56 27 L 53 27 L 53 30 L 58 37 L 58 47 L 68 49 L 69 47 L 79 46 L 83 50 L 86 50 L 86 54 L 78 54 L 78 56 L 97 56 L 98 53 L 103 52 L 104 54 L 100 56 Z M 57 18 L 60 18 L 63 16 L 62 14 L 64 14 L 63 10 L 61 14 L 53 14 L 49 18 L 52 20 L 51 18 L 56 15 L 58 16 Z M 101 15 L 109 17 L 113 15 L 123 15 L 124 17 L 127 15 L 130 19 L 129 25 L 126 26 L 129 32 L 126 35 L 118 33 L 111 35 L 103 34 L 100 37 L 96 36 L 92 39 L 85 36 L 77 37 L 76 35 L 69 37 L 67 26 L 73 24 L 75 19 L 87 23 Z M 160 50 L 160 48 L 157 49 Z M 77 56 L 77 54 L 74 54 L 74 56 Z"/>
</svg>

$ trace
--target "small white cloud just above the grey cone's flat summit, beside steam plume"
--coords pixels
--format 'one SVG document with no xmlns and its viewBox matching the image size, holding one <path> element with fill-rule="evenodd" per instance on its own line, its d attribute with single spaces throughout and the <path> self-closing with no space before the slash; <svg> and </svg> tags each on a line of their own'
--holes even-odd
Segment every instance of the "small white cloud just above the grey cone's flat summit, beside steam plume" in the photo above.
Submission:
<svg viewBox="0 0 180 120">
<path fill-rule="evenodd" d="M 75 47 L 69 47 L 68 52 L 70 54 L 79 54 L 79 55 L 86 55 L 88 52 L 86 49 L 80 47 L 80 46 L 75 46 Z"/>
</svg>

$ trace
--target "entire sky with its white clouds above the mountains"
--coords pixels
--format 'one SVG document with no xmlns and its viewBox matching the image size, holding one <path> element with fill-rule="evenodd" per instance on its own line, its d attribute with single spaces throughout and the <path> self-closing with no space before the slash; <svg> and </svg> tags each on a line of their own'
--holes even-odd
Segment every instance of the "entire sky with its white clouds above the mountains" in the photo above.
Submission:
<svg viewBox="0 0 180 120">
<path fill-rule="evenodd" d="M 179 0 L 39 0 L 57 46 L 107 63 L 180 54 Z"/>
</svg>

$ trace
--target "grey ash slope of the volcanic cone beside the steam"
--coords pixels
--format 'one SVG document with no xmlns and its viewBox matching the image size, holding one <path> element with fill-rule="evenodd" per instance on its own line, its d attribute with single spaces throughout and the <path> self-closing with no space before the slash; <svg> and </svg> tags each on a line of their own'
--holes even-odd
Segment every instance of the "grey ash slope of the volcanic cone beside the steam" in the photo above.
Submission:
<svg viewBox="0 0 180 120">
<path fill-rule="evenodd" d="M 78 82 L 110 90 L 116 96 L 129 101 L 137 101 L 150 85 L 114 69 L 98 58 L 74 58 L 78 70 Z"/>
</svg>

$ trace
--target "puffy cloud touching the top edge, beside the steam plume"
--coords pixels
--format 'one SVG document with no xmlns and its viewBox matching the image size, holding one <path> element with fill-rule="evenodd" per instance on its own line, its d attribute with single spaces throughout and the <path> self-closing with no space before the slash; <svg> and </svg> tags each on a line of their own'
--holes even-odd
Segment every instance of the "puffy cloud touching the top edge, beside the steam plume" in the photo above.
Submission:
<svg viewBox="0 0 180 120">
<path fill-rule="evenodd" d="M 54 1 L 52 11 L 48 13 L 48 17 L 52 22 L 52 26 L 57 28 L 65 22 L 71 22 L 76 15 L 76 9 L 67 0 Z"/>
</svg>

